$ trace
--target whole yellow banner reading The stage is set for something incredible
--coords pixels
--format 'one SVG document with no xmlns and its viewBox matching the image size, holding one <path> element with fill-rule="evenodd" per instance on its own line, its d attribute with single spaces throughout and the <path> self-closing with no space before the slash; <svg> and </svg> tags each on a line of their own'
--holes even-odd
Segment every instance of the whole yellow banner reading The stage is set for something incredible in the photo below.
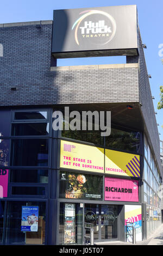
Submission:
<svg viewBox="0 0 163 256">
<path fill-rule="evenodd" d="M 140 155 L 61 140 L 60 167 L 140 178 Z"/>
</svg>

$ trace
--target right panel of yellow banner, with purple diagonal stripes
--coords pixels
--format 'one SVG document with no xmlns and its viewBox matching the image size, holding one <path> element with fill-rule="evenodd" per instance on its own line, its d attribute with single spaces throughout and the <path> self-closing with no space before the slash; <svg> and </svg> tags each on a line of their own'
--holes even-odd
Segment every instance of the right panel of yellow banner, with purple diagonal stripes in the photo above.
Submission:
<svg viewBox="0 0 163 256">
<path fill-rule="evenodd" d="M 140 177 L 140 156 L 105 149 L 105 173 Z"/>
</svg>

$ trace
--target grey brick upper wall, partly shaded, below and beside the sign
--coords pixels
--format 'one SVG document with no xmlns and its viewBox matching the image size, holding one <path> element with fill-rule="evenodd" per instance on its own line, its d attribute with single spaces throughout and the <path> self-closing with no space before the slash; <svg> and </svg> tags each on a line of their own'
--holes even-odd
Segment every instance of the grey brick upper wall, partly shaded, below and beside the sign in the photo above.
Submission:
<svg viewBox="0 0 163 256">
<path fill-rule="evenodd" d="M 52 23 L 0 26 L 0 43 L 1 106 L 139 101 L 137 68 L 51 71 Z"/>
</svg>

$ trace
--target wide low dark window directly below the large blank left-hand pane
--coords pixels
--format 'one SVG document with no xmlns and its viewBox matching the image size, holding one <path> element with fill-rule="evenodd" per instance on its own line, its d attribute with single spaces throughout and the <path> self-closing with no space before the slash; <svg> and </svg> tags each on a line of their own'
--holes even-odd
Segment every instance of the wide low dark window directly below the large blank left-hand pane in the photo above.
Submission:
<svg viewBox="0 0 163 256">
<path fill-rule="evenodd" d="M 45 169 L 12 169 L 10 182 L 48 183 L 48 170 Z"/>
</svg>

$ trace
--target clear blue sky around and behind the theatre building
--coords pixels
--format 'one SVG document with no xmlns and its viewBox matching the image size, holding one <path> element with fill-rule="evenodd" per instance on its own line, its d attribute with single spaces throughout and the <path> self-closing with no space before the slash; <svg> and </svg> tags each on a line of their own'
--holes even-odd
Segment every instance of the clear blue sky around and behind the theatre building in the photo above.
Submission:
<svg viewBox="0 0 163 256">
<path fill-rule="evenodd" d="M 71 9 L 71 8 L 89 8 L 89 7 L 105 7 L 110 5 L 128 5 L 136 4 L 139 14 L 139 27 L 142 41 L 147 45 L 145 49 L 145 57 L 148 74 L 152 75 L 149 80 L 151 84 L 151 92 L 155 97 L 153 100 L 158 129 L 161 133 L 160 139 L 163 141 L 163 109 L 156 109 L 157 102 L 160 99 L 159 87 L 163 85 L 163 65 L 159 56 L 159 45 L 163 44 L 163 1 L 162 0 L 6 0 L 1 1 L 0 5 L 0 23 L 22 22 L 22 21 L 38 21 L 38 20 L 53 20 L 53 10 L 56 9 Z M 162 51 L 163 52 L 163 51 Z M 74 60 L 72 60 L 73 62 Z M 82 60 L 80 60 L 81 62 Z M 91 60 L 96 64 L 97 60 Z M 122 58 L 101 58 L 98 64 L 106 63 L 123 63 Z M 76 63 L 69 63 L 73 65 Z M 85 64 L 85 63 L 83 63 Z M 82 63 L 80 63 L 82 65 Z"/>
</svg>

